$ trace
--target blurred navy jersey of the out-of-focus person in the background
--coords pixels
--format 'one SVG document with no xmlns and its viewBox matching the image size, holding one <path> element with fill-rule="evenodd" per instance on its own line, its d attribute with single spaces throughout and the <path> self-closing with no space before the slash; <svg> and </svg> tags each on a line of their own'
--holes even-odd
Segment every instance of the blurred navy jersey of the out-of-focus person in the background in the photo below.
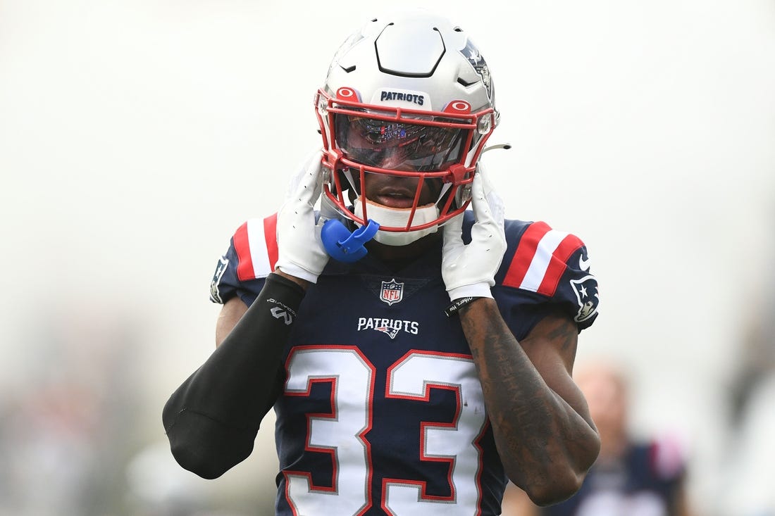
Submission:
<svg viewBox="0 0 775 516">
<path fill-rule="evenodd" d="M 684 459 L 669 443 L 634 442 L 621 461 L 594 464 L 574 496 L 543 507 L 544 516 L 677 514 Z"/>
</svg>

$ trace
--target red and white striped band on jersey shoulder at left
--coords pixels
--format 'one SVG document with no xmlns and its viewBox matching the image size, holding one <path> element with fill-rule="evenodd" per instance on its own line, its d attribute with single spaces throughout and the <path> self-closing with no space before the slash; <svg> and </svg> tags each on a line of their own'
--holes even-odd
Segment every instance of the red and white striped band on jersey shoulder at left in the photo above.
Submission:
<svg viewBox="0 0 775 516">
<path fill-rule="evenodd" d="M 237 278 L 240 281 L 267 277 L 277 263 L 277 215 L 251 218 L 234 233 L 234 249 L 239 264 Z"/>
</svg>

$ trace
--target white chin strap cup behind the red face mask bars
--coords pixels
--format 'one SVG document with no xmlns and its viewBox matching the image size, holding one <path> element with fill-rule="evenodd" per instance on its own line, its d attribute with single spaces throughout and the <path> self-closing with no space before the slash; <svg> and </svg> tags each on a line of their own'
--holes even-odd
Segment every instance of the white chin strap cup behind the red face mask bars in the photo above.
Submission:
<svg viewBox="0 0 775 516">
<path fill-rule="evenodd" d="M 412 213 L 411 208 L 388 208 L 368 199 L 366 204 L 369 205 L 369 218 L 379 223 L 379 225 L 388 227 L 405 227 L 409 222 L 409 215 Z M 363 218 L 363 205 L 361 204 L 360 197 L 356 198 L 353 208 L 355 215 Z M 415 210 L 415 218 L 412 218 L 412 225 L 427 224 L 436 220 L 436 218 L 439 218 L 438 206 L 435 204 L 420 206 Z M 356 225 L 360 227 L 360 224 L 357 222 Z M 419 229 L 418 231 L 377 231 L 374 240 L 386 246 L 405 246 L 421 239 L 423 236 L 435 233 L 438 229 L 438 225 L 432 225 L 429 228 Z"/>
</svg>

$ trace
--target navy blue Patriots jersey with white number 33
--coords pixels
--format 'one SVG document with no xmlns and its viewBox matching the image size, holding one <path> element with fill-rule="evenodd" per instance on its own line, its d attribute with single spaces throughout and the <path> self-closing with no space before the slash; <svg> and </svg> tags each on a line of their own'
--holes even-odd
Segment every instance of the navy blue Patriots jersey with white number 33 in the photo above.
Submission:
<svg viewBox="0 0 775 516">
<path fill-rule="evenodd" d="M 212 301 L 257 297 L 275 222 L 237 229 Z M 465 243 L 473 222 L 466 212 Z M 492 293 L 515 337 L 554 308 L 591 325 L 597 282 L 580 239 L 543 222 L 505 230 Z M 460 321 L 444 314 L 440 263 L 440 245 L 398 272 L 370 255 L 330 260 L 308 288 L 278 364 L 277 514 L 500 514 L 506 477 Z"/>
</svg>

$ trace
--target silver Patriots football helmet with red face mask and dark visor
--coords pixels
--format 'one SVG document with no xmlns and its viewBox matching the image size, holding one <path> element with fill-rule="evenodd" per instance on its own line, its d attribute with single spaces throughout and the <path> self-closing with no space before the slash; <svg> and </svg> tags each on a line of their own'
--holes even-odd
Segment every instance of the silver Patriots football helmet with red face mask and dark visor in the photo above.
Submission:
<svg viewBox="0 0 775 516">
<path fill-rule="evenodd" d="M 487 63 L 467 33 L 424 11 L 372 19 L 336 52 L 315 95 L 323 138 L 323 191 L 374 238 L 405 245 L 435 232 L 470 202 L 484 143 L 498 124 Z M 412 177 L 411 207 L 361 192 L 367 174 Z M 427 182 L 436 201 L 420 205 Z M 345 196 L 345 192 L 348 192 Z"/>
</svg>

